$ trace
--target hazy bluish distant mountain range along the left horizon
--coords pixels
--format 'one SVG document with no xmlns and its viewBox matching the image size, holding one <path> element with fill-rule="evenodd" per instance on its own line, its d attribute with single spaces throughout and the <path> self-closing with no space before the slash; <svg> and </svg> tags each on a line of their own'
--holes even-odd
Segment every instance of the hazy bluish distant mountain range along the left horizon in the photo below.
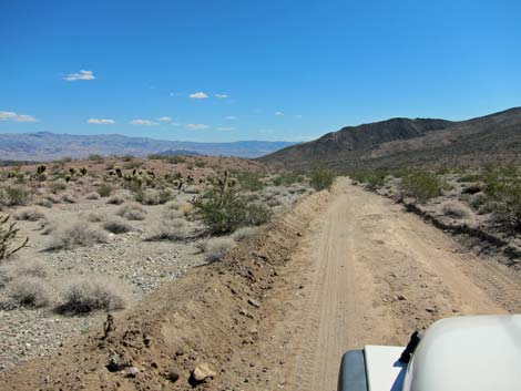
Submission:
<svg viewBox="0 0 521 391">
<path fill-rule="evenodd" d="M 119 134 L 3 133 L 0 134 L 0 161 L 52 161 L 65 156 L 86 157 L 91 154 L 146 156 L 163 152 L 181 154 L 184 151 L 186 151 L 185 154 L 258 157 L 294 144 L 267 141 L 195 143 L 129 137 Z"/>
</svg>

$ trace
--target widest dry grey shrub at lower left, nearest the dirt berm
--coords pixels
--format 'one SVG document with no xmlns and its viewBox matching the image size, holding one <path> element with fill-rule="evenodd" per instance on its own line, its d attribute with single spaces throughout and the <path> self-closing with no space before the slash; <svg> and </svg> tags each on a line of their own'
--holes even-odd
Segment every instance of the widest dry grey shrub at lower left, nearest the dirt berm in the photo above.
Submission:
<svg viewBox="0 0 521 391">
<path fill-rule="evenodd" d="M 61 313 L 88 313 L 95 310 L 123 309 L 127 302 L 126 288 L 122 282 L 105 277 L 76 277 L 61 292 Z"/>
</svg>

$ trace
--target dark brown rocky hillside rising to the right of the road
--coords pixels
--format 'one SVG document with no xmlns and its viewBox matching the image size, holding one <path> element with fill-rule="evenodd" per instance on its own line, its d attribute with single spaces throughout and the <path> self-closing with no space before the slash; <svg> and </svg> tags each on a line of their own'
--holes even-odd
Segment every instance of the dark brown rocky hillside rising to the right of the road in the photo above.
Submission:
<svg viewBox="0 0 521 391">
<path fill-rule="evenodd" d="M 458 122 L 391 119 L 347 126 L 259 161 L 297 169 L 521 164 L 521 107 Z"/>
</svg>

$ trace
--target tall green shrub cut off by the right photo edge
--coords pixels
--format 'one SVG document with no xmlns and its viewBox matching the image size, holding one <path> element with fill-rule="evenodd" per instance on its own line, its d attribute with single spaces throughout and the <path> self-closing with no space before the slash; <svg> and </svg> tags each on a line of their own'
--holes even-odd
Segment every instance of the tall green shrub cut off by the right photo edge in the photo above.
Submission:
<svg viewBox="0 0 521 391">
<path fill-rule="evenodd" d="M 517 167 L 488 169 L 483 176 L 490 209 L 507 224 L 521 229 L 521 172 Z"/>
</svg>

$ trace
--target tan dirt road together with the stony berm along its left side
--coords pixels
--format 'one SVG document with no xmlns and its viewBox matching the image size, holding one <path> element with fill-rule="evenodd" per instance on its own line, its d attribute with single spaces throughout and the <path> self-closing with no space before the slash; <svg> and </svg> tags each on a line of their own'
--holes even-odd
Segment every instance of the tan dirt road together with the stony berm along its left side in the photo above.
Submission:
<svg viewBox="0 0 521 391">
<path fill-rule="evenodd" d="M 335 390 L 344 351 L 403 344 L 443 317 L 520 312 L 520 281 L 341 178 L 121 313 L 109 338 L 98 330 L 0 373 L 0 389 L 187 390 L 205 362 L 216 372 L 205 390 Z M 109 372 L 113 354 L 137 375 Z"/>
</svg>

